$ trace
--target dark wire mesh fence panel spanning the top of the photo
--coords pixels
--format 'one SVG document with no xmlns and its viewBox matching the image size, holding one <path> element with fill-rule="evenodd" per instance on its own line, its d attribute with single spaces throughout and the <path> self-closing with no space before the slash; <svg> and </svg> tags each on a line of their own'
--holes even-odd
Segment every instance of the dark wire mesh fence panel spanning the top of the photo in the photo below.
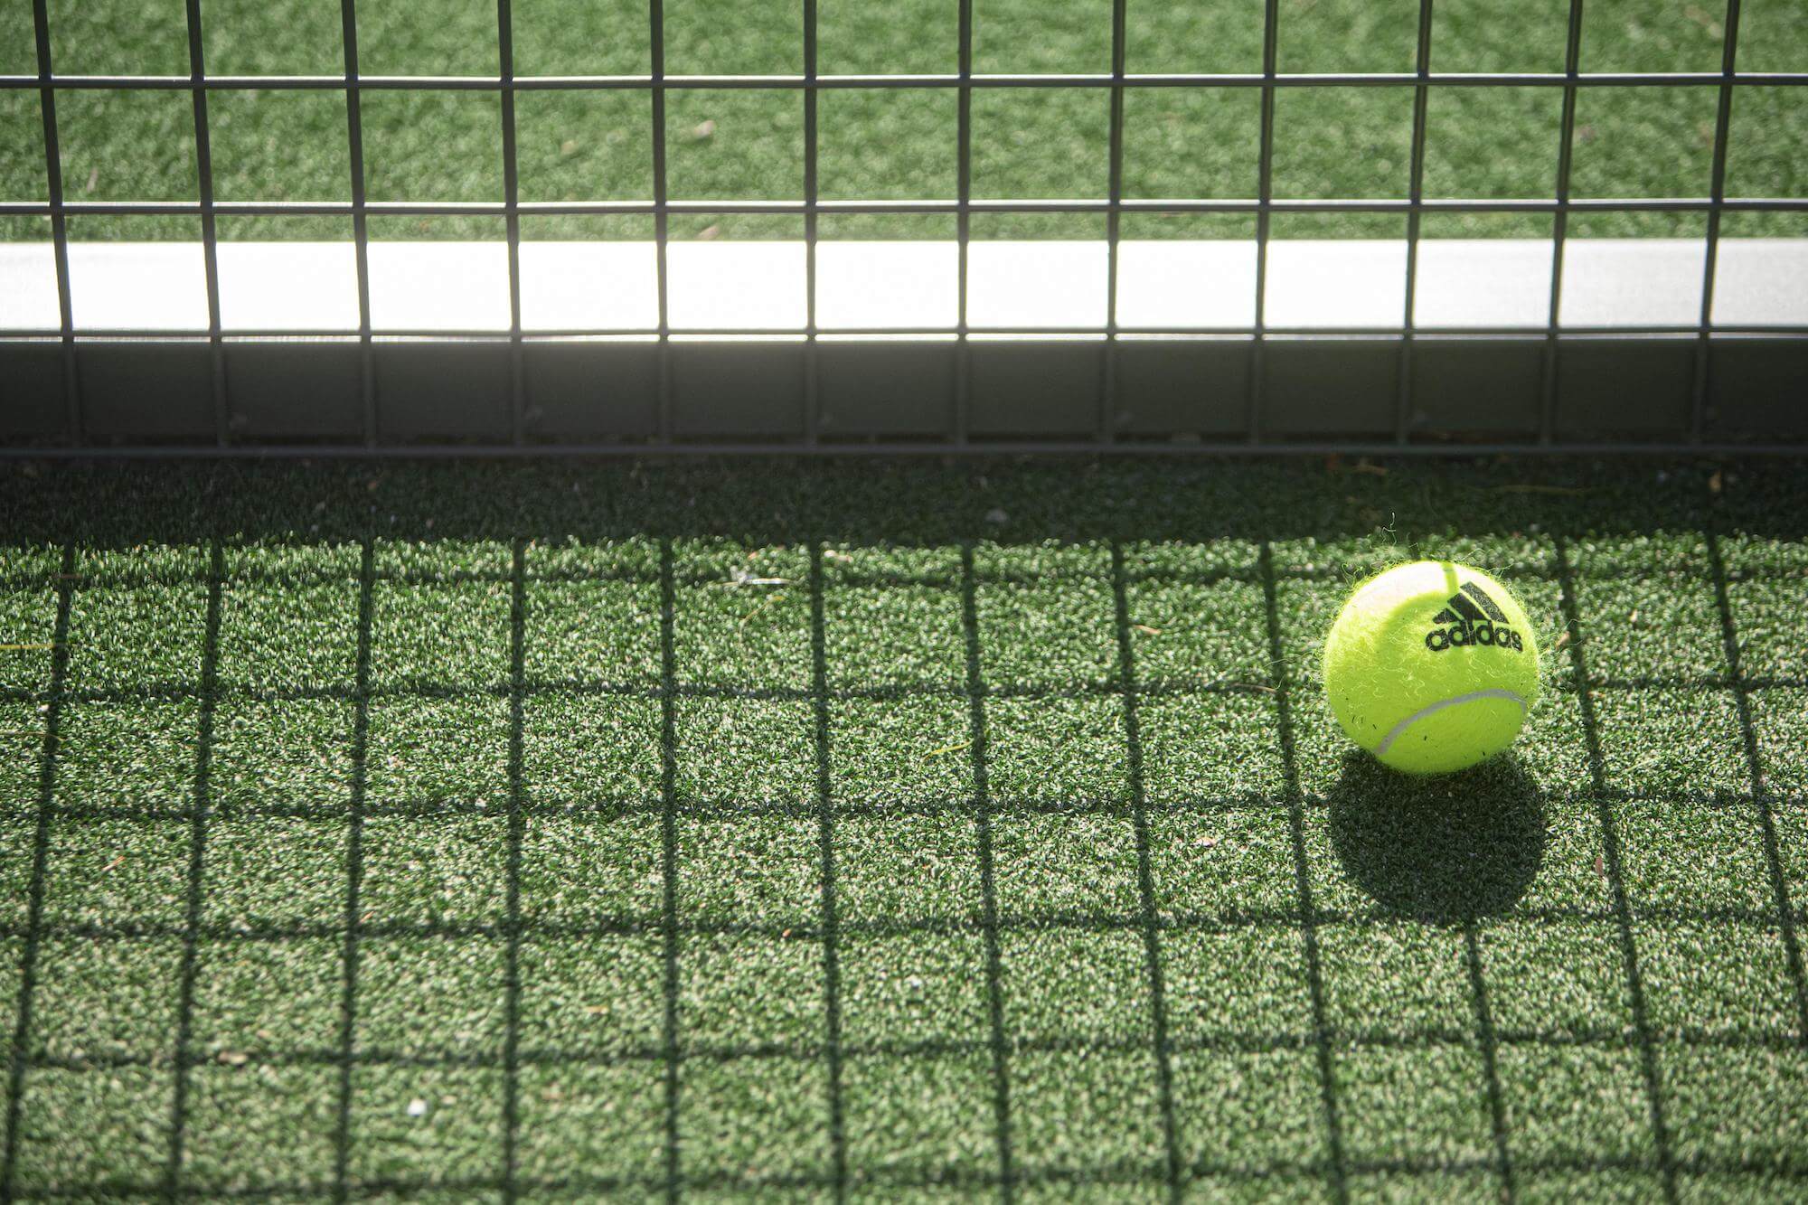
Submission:
<svg viewBox="0 0 1808 1205">
<path fill-rule="evenodd" d="M 1488 52 L 1434 0 L 1311 52 L 1284 0 L 960 0 L 906 13 L 931 49 L 893 31 L 890 62 L 817 0 L 768 5 L 739 58 L 673 0 L 582 45 L 510 0 L 438 40 L 403 16 L 410 52 L 344 0 L 291 58 L 222 7 L 155 42 L 29 5 L 33 62 L 0 74 L 7 190 L 42 194 L 0 199 L 31 241 L 0 248 L 25 445 L 1799 447 L 1808 422 L 1808 47 L 1777 0 L 1618 40 L 1589 16 L 1613 5 L 1497 5 Z M 1007 49 L 1063 20 L 1085 52 Z M 1638 49 L 1681 20 L 1687 52 Z M 1531 49 L 1499 52 L 1515 27 Z M 331 168 L 246 150 L 322 96 L 344 128 L 316 109 L 293 154 Z M 698 166 L 738 107 L 763 134 Z M 615 147 L 577 183 L 568 119 Z M 65 179 L 108 127 L 143 134 L 130 163 Z M 114 176 L 166 197 L 89 199 Z M 342 199 L 269 195 L 295 190 Z"/>
</svg>

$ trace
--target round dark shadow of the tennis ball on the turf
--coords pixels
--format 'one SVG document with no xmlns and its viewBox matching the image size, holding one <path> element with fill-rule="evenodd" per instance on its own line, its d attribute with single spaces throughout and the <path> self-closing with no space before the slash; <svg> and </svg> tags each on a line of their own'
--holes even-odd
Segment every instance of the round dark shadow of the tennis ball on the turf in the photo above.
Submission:
<svg viewBox="0 0 1808 1205">
<path fill-rule="evenodd" d="M 1412 778 L 1351 753 L 1327 803 L 1343 872 L 1403 916 L 1497 916 L 1524 897 L 1544 861 L 1544 792 L 1511 754 Z"/>
</svg>

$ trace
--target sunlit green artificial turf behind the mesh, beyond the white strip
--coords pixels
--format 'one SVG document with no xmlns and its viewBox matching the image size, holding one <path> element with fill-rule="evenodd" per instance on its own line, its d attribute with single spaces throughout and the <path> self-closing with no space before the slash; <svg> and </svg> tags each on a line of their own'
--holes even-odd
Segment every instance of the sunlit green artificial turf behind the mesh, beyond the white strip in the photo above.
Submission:
<svg viewBox="0 0 1808 1205">
<path fill-rule="evenodd" d="M 1439 4 L 1432 67 L 1452 72 L 1557 72 L 1566 0 Z M 1282 0 L 1282 72 L 1408 72 L 1417 43 L 1412 0 Z M 1718 4 L 1600 0 L 1584 9 L 1586 72 L 1716 72 Z M 188 74 L 188 36 L 175 0 L 52 0 L 52 65 L 63 74 Z M 342 74 L 340 9 L 329 0 L 210 0 L 204 58 L 213 74 Z M 976 72 L 1108 72 L 1108 0 L 976 0 Z M 651 31 L 638 0 L 544 0 L 513 11 L 515 71 L 644 74 Z M 819 71 L 953 72 L 956 5 L 824 0 Z M 456 0 L 430 18 L 409 0 L 358 5 L 365 74 L 495 74 L 495 5 Z M 36 74 L 31 5 L 0 11 L 0 72 Z M 1262 5 L 1248 0 L 1130 0 L 1130 72 L 1260 72 Z M 1801 71 L 1808 14 L 1795 0 L 1741 5 L 1739 69 Z M 669 0 L 669 74 L 796 74 L 803 9 L 796 0 Z M 1714 87 L 1584 89 L 1575 128 L 1577 197 L 1710 194 Z M 1560 90 L 1452 87 L 1432 92 L 1425 194 L 1522 199 L 1555 194 Z M 72 201 L 193 201 L 193 112 L 181 90 L 61 90 L 56 98 L 65 195 Z M 345 98 L 327 90 L 208 94 L 213 188 L 222 201 L 349 201 Z M 1126 197 L 1255 197 L 1260 98 L 1253 89 L 1132 89 L 1125 98 Z M 517 96 L 523 201 L 635 201 L 653 195 L 651 101 L 635 92 Z M 372 201 L 503 201 L 501 101 L 494 92 L 363 94 L 365 186 Z M 43 143 L 36 90 L 0 92 L 0 197 L 42 199 Z M 665 112 L 671 195 L 801 199 L 803 103 L 786 90 L 674 90 Z M 1808 92 L 1741 87 L 1732 110 L 1727 194 L 1794 197 L 1808 186 Z M 1408 195 L 1412 90 L 1284 89 L 1275 105 L 1276 197 Z M 828 90 L 819 114 L 819 190 L 828 199 L 946 199 L 956 192 L 956 105 L 947 89 Z M 973 195 L 1103 197 L 1108 96 L 1101 89 L 980 89 L 973 98 Z M 1249 237 L 1246 219 L 1143 221 L 1126 237 Z M 224 239 L 345 239 L 331 217 L 228 217 Z M 1584 230 L 1700 237 L 1700 215 L 1607 213 Z M 673 235 L 801 237 L 799 219 L 687 213 Z M 1734 235 L 1801 235 L 1790 215 L 1728 219 Z M 47 237 L 42 219 L 4 219 L 7 239 Z M 1280 221 L 1276 237 L 1403 237 L 1405 219 L 1354 215 Z M 1427 237 L 1542 237 L 1539 215 L 1457 215 Z M 78 239 L 197 239 L 181 217 L 78 217 Z M 651 237 L 651 219 L 541 217 L 528 239 Z M 824 237 L 953 237 L 951 219 L 837 219 Z M 372 237 L 499 239 L 501 221 L 407 217 L 372 223 Z M 1092 215 L 998 215 L 975 237 L 1103 237 Z"/>
</svg>

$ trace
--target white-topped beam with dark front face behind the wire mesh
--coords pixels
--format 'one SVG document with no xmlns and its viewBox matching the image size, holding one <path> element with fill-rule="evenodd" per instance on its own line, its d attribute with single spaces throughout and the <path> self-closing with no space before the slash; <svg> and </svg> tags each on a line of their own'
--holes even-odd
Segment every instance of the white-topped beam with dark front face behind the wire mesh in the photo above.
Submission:
<svg viewBox="0 0 1808 1205">
<path fill-rule="evenodd" d="M 1808 443 L 1808 239 L 0 244 L 0 440 L 16 449 L 1712 447 Z M 0 449 L 5 451 L 5 449 Z"/>
</svg>

